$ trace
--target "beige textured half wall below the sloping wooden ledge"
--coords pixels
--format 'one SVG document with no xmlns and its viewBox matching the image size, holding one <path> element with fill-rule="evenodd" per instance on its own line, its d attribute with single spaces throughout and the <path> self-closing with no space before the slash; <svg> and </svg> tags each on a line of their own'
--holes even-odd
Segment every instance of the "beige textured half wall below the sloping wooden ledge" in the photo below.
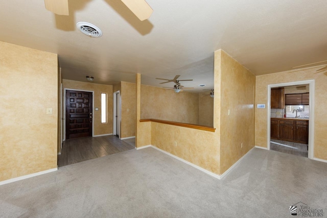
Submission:
<svg viewBox="0 0 327 218">
<path fill-rule="evenodd" d="M 151 144 L 219 174 L 219 147 L 213 132 L 151 122 Z"/>
</svg>

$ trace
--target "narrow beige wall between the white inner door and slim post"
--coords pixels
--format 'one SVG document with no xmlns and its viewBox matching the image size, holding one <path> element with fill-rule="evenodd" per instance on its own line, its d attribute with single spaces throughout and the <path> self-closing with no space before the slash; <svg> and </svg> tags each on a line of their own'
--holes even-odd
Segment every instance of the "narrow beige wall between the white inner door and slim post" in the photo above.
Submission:
<svg viewBox="0 0 327 218">
<path fill-rule="evenodd" d="M 136 84 L 121 83 L 121 138 L 135 136 Z"/>
</svg>

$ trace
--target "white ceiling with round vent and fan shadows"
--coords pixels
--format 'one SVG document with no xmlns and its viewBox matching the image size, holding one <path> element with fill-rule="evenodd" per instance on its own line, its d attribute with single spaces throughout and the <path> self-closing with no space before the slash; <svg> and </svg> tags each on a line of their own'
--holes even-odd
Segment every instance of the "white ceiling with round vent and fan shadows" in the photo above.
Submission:
<svg viewBox="0 0 327 218">
<path fill-rule="evenodd" d="M 161 86 L 156 77 L 181 75 L 194 91 L 213 88 L 219 49 L 255 75 L 327 60 L 325 0 L 147 2 L 153 13 L 139 21 L 120 0 L 69 0 L 69 16 L 47 11 L 43 0 L 0 0 L 0 41 L 58 54 L 64 79 L 115 84 L 138 72 L 143 84 Z M 103 36 L 83 35 L 78 21 Z"/>
</svg>

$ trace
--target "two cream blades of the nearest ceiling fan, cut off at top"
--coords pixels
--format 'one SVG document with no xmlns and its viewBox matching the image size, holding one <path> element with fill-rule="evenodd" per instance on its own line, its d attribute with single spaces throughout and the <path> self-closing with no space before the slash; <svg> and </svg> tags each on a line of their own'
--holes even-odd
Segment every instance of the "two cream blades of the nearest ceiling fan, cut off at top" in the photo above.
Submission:
<svg viewBox="0 0 327 218">
<path fill-rule="evenodd" d="M 118 0 L 117 0 L 118 1 Z M 153 10 L 145 0 L 121 0 L 135 16 L 142 20 L 148 19 Z M 44 0 L 46 10 L 59 15 L 69 15 L 68 0 Z"/>
</svg>

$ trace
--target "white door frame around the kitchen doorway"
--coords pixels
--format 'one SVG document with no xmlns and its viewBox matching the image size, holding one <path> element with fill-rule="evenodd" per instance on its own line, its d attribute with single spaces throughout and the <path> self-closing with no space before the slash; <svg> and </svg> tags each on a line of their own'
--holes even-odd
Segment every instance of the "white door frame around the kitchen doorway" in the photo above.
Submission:
<svg viewBox="0 0 327 218">
<path fill-rule="evenodd" d="M 271 88 L 282 86 L 306 85 L 309 84 L 309 142 L 308 142 L 308 158 L 314 159 L 314 99 L 315 99 L 315 81 L 305 80 L 290 83 L 278 83 L 268 85 L 268 102 L 267 102 L 267 149 L 270 150 L 270 95 Z"/>
</svg>

